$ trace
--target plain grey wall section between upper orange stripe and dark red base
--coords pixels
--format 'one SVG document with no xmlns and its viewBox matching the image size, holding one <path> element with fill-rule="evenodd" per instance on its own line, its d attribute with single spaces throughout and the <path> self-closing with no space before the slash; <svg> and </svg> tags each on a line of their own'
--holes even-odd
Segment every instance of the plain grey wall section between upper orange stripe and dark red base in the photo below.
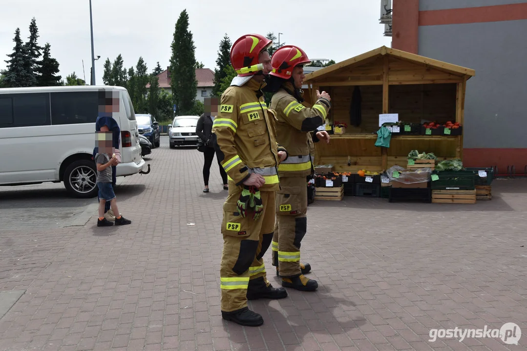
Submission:
<svg viewBox="0 0 527 351">
<path fill-rule="evenodd" d="M 527 147 L 527 20 L 419 27 L 419 55 L 469 67 L 464 147 Z"/>
</svg>

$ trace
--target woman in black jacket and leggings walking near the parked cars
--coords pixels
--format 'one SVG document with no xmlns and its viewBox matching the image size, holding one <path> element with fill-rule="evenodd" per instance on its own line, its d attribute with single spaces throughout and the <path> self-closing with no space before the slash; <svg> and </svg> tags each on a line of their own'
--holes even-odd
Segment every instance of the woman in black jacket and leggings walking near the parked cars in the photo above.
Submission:
<svg viewBox="0 0 527 351">
<path fill-rule="evenodd" d="M 213 121 L 214 117 L 202 114 L 201 117 L 199 117 L 198 123 L 196 125 L 196 134 L 201 138 L 203 144 L 205 144 L 205 151 L 203 152 L 203 156 L 205 157 L 203 163 L 203 182 L 205 183 L 205 188 L 203 189 L 203 193 L 209 192 L 210 166 L 212 165 L 214 154 L 217 151 L 217 148 L 214 147 L 216 138 L 212 137 Z M 216 155 L 216 159 L 219 160 L 218 155 Z M 218 165 L 220 166 L 220 175 L 221 179 L 223 180 L 223 189 L 228 190 L 229 187 L 227 185 L 227 173 L 225 173 L 225 170 L 219 161 Z"/>
</svg>

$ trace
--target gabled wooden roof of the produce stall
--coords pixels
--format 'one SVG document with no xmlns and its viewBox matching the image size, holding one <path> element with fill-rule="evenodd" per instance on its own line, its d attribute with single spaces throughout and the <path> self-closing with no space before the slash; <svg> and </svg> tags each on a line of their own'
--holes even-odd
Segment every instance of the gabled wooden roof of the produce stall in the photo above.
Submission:
<svg viewBox="0 0 527 351">
<path fill-rule="evenodd" d="M 307 84 L 377 85 L 383 75 L 389 84 L 456 83 L 475 75 L 473 69 L 405 51 L 379 47 L 306 75 Z"/>
</svg>

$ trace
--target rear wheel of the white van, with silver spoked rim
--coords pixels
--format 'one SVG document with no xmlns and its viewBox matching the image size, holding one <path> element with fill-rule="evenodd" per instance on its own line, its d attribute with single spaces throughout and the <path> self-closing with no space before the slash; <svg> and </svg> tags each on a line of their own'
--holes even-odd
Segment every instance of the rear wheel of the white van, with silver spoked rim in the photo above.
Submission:
<svg viewBox="0 0 527 351">
<path fill-rule="evenodd" d="M 64 171 L 64 187 L 75 197 L 95 197 L 97 188 L 97 168 L 94 161 L 80 159 L 71 163 Z"/>
</svg>

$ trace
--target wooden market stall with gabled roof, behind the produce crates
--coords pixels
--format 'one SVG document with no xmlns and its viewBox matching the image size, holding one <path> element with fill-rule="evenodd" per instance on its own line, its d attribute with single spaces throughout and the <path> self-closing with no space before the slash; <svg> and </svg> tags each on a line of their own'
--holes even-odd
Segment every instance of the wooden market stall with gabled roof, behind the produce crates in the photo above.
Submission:
<svg viewBox="0 0 527 351">
<path fill-rule="evenodd" d="M 466 81 L 474 74 L 470 68 L 382 46 L 306 75 L 306 105 L 316 100 L 317 90 L 326 91 L 333 105 L 330 123 L 348 125 L 345 134 L 331 135 L 329 144 L 315 144 L 315 163 L 334 164 L 336 171 L 380 172 L 395 164 L 406 166 L 413 149 L 441 159 L 463 159 L 463 135 L 392 134 L 390 147 L 384 148 L 375 146 L 376 132 L 379 114 L 385 113 L 397 113 L 405 123 L 463 125 Z M 350 117 L 352 104 L 360 104 L 354 106 L 360 123 L 357 114 L 353 121 Z"/>
</svg>

